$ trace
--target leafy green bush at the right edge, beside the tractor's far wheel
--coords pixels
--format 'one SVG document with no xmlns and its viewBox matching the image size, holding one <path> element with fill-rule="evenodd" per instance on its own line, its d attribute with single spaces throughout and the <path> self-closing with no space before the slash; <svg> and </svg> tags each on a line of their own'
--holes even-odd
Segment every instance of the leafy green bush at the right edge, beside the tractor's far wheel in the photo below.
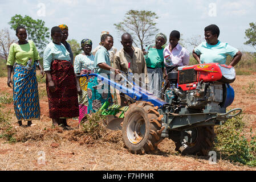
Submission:
<svg viewBox="0 0 256 182">
<path fill-rule="evenodd" d="M 220 152 L 221 158 L 256 166 L 256 137 L 251 133 L 250 138 L 247 139 L 242 134 L 244 126 L 242 116 L 238 115 L 229 119 L 224 125 L 216 127 L 215 149 Z"/>
</svg>

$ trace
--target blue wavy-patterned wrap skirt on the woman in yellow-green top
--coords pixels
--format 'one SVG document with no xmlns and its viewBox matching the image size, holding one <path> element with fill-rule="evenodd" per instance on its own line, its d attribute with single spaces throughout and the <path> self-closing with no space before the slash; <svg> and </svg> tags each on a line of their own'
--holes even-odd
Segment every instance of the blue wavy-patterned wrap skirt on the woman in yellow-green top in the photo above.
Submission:
<svg viewBox="0 0 256 182">
<path fill-rule="evenodd" d="M 15 64 L 13 72 L 13 103 L 18 121 L 40 119 L 35 65 L 27 69 L 26 66 Z"/>
</svg>

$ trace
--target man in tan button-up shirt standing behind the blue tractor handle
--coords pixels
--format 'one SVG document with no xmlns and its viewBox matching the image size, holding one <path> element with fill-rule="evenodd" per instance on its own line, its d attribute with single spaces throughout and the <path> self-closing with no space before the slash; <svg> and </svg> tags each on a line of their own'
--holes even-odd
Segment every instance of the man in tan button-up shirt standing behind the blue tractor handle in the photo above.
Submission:
<svg viewBox="0 0 256 182">
<path fill-rule="evenodd" d="M 148 84 L 147 64 L 143 55 L 143 51 L 137 47 L 132 46 L 133 40 L 131 34 L 125 33 L 121 36 L 121 44 L 123 49 L 118 51 L 113 59 L 113 68 L 119 69 L 125 73 L 128 72 L 128 65 L 130 64 L 129 72 L 133 73 L 135 82 L 143 86 Z M 138 75 L 139 78 L 137 77 Z M 141 82 L 138 83 L 137 80 Z M 124 93 L 120 93 L 121 106 L 131 104 L 130 97 Z"/>
</svg>

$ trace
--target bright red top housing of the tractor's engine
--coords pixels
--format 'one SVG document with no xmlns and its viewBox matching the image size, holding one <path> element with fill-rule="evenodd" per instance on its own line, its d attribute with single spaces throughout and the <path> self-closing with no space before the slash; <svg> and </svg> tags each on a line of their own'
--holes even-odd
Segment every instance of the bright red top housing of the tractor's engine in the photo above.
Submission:
<svg viewBox="0 0 256 182">
<path fill-rule="evenodd" d="M 198 82 L 231 83 L 234 80 L 234 67 L 225 64 L 208 63 L 178 68 L 178 86 L 184 91 L 196 89 Z"/>
</svg>

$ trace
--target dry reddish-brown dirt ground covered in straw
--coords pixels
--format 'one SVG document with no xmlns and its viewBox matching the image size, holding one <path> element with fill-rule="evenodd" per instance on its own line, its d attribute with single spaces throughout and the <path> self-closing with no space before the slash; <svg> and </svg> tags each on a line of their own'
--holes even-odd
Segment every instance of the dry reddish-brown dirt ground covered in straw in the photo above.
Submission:
<svg viewBox="0 0 256 182">
<path fill-rule="evenodd" d="M 237 76 L 231 84 L 235 90 L 235 100 L 230 108 L 243 109 L 245 130 L 253 128 L 256 131 L 256 96 L 248 91 L 249 83 L 256 81 L 256 75 Z M 39 90 L 45 90 L 44 84 L 39 84 Z M 6 77 L 0 78 L 0 96 L 12 95 L 12 89 L 7 87 Z M 31 139 L 26 142 L 8 143 L 0 139 L 0 170 L 202 170 L 202 171 L 233 171 L 251 170 L 256 167 L 230 163 L 217 159 L 216 164 L 209 163 L 209 156 L 182 156 L 174 151 L 172 140 L 164 139 L 159 144 L 156 154 L 133 155 L 122 143 L 101 142 L 84 144 L 71 140 L 71 134 L 76 130 L 52 130 L 51 119 L 48 118 L 47 96 L 40 98 L 40 121 L 32 121 L 34 126 L 23 128 L 17 124 L 13 104 L 6 104 L 5 111 L 9 112 L 9 121 L 22 135 L 27 134 Z M 24 123 L 26 124 L 26 123 Z M 78 126 L 78 121 L 70 119 L 68 124 Z M 1 130 L 0 130 L 1 131 Z M 40 134 L 44 133 L 43 139 Z"/>
</svg>

